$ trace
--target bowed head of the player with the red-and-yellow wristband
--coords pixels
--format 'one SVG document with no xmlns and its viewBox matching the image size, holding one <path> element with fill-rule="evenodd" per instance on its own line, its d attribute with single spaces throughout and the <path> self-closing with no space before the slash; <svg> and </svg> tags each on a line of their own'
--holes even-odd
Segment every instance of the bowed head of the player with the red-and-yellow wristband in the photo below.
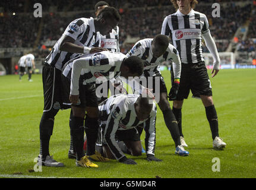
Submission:
<svg viewBox="0 0 256 190">
<path fill-rule="evenodd" d="M 158 34 L 152 41 L 152 53 L 155 58 L 159 58 L 163 53 L 166 52 L 169 46 L 169 39 L 167 36 Z"/>
</svg>

